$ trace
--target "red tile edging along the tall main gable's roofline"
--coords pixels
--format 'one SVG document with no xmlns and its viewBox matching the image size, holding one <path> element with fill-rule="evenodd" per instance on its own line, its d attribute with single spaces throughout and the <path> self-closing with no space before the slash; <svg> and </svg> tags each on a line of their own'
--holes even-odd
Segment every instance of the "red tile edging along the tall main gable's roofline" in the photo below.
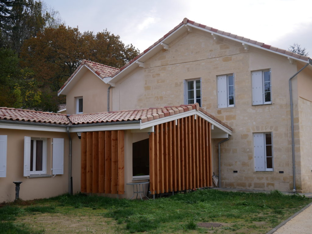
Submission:
<svg viewBox="0 0 312 234">
<path fill-rule="evenodd" d="M 232 37 L 232 38 L 235 38 L 237 40 L 241 40 L 242 43 L 244 42 L 248 42 L 248 43 L 252 43 L 252 44 L 255 44 L 255 45 L 258 45 L 258 46 L 261 46 L 265 49 L 269 49 L 269 50 L 272 50 L 272 51 L 276 51 L 276 52 L 279 52 L 279 53 L 282 53 L 282 54 L 285 54 L 285 55 L 288 55 L 288 56 L 291 56 L 291 57 L 295 57 L 297 59 L 301 59 L 301 60 L 306 60 L 306 61 L 309 61 L 309 57 L 307 56 L 303 56 L 303 55 L 298 55 L 298 54 L 295 54 L 293 52 L 290 52 L 288 50 L 283 50 L 283 49 L 279 49 L 277 47 L 273 47 L 271 45 L 266 45 L 264 44 L 263 42 L 259 42 L 259 41 L 254 41 L 254 40 L 251 40 L 249 38 L 246 38 L 246 37 L 243 37 L 243 36 L 237 36 L 236 34 L 232 34 L 232 33 L 229 33 L 229 32 L 225 32 L 225 31 L 221 31 L 221 30 L 218 30 L 218 29 L 215 29 L 215 28 L 212 28 L 212 27 L 209 27 L 209 26 L 206 26 L 206 25 L 203 25 L 203 24 L 199 24 L 199 23 L 196 23 L 194 21 L 191 21 L 189 20 L 188 18 L 184 18 L 183 21 L 181 23 L 179 23 L 177 26 L 175 26 L 172 30 L 170 30 L 167 34 L 165 34 L 162 38 L 160 38 L 158 41 L 156 41 L 153 45 L 149 46 L 149 48 L 147 48 L 146 50 L 144 50 L 142 53 L 140 53 L 138 56 L 136 56 L 134 59 L 132 59 L 131 61 L 129 61 L 129 63 L 125 64 L 123 67 L 121 67 L 115 74 L 113 74 L 111 77 L 113 78 L 115 75 L 117 75 L 119 72 L 121 72 L 123 69 L 125 69 L 127 66 L 129 66 L 130 64 L 132 64 L 134 61 L 136 61 L 137 59 L 139 59 L 142 55 L 144 55 L 146 52 L 148 52 L 149 50 L 151 50 L 155 45 L 157 45 L 159 42 L 163 41 L 163 39 L 165 39 L 166 37 L 168 37 L 173 31 L 177 30 L 181 25 L 183 24 L 193 24 L 194 26 L 198 26 L 198 27 L 201 27 L 201 28 L 204 28 L 204 29 L 207 29 L 207 30 L 210 30 L 210 31 L 213 31 L 213 32 L 216 32 L 216 33 L 219 33 L 219 34 L 222 34 L 222 35 L 225 35 L 225 36 L 229 36 L 229 37 Z"/>
</svg>

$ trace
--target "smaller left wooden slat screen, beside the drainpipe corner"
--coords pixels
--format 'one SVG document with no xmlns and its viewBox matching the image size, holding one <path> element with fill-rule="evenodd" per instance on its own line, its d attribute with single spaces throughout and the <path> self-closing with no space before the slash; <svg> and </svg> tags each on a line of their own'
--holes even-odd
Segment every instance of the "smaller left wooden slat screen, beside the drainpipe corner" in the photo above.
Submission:
<svg viewBox="0 0 312 234">
<path fill-rule="evenodd" d="M 124 194 L 124 131 L 81 133 L 81 192 Z"/>
</svg>

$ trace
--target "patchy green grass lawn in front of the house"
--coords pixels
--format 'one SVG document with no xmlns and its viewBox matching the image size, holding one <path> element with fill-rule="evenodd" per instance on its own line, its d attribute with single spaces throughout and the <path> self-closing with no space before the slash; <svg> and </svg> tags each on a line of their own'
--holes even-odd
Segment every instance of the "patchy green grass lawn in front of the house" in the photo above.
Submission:
<svg viewBox="0 0 312 234">
<path fill-rule="evenodd" d="M 310 202 L 278 191 L 205 189 L 144 201 L 65 194 L 1 204 L 0 234 L 266 233 Z"/>
</svg>

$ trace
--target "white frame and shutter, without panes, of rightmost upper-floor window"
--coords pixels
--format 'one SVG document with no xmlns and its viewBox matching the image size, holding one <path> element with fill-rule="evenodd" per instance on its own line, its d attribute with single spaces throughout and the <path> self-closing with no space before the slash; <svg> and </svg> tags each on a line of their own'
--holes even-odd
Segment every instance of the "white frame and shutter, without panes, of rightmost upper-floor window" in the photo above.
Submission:
<svg viewBox="0 0 312 234">
<path fill-rule="evenodd" d="M 261 78 L 260 78 L 261 72 Z M 270 101 L 265 100 L 265 80 L 264 73 L 269 72 L 270 74 Z M 261 83 L 259 81 L 261 79 Z M 272 104 L 272 73 L 270 69 L 256 70 L 251 72 L 251 83 L 252 83 L 252 105 L 265 105 Z M 259 94 L 261 93 L 261 94 Z M 261 96 L 260 96 L 261 95 Z"/>
</svg>

